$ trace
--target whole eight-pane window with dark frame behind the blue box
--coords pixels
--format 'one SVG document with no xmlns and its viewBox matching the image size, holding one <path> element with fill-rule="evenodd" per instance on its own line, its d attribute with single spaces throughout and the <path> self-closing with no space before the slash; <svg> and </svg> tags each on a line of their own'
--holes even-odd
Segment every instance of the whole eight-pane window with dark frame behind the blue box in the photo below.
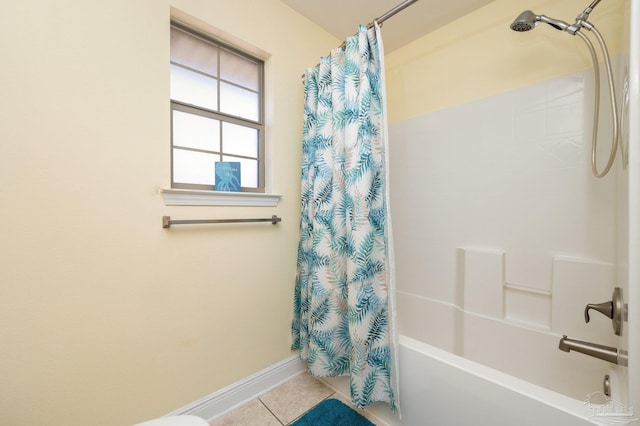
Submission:
<svg viewBox="0 0 640 426">
<path fill-rule="evenodd" d="M 171 187 L 215 189 L 215 163 L 240 163 L 242 191 L 264 192 L 264 63 L 171 26 Z"/>
</svg>

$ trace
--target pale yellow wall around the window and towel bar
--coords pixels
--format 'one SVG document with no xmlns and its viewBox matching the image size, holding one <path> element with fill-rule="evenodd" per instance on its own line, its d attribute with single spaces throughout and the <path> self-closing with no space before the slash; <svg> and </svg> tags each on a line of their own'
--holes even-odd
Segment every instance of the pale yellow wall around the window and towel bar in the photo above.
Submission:
<svg viewBox="0 0 640 426">
<path fill-rule="evenodd" d="M 269 55 L 278 207 L 164 205 L 172 6 Z M 0 424 L 131 424 L 288 357 L 300 74 L 339 41 L 277 0 L 11 1 L 0 33 Z"/>
</svg>

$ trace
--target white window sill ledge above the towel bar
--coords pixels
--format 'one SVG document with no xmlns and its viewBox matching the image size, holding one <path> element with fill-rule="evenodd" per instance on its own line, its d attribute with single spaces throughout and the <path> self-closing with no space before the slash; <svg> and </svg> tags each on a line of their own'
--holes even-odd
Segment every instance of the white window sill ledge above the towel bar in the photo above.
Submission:
<svg viewBox="0 0 640 426">
<path fill-rule="evenodd" d="M 282 195 L 256 192 L 199 191 L 161 188 L 167 206 L 254 206 L 275 207 Z"/>
</svg>

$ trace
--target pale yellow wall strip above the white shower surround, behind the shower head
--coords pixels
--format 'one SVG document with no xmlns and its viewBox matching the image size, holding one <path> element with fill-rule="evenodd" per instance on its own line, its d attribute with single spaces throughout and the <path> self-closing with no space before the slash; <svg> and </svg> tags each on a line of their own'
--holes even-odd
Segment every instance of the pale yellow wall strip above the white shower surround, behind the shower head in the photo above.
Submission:
<svg viewBox="0 0 640 426">
<path fill-rule="evenodd" d="M 591 67 L 589 50 L 578 37 L 545 24 L 525 34 L 509 29 L 526 9 L 573 23 L 588 4 L 584 0 L 495 0 L 388 54 L 389 121 Z M 591 13 L 591 22 L 612 54 L 620 49 L 623 7 L 624 2 L 605 1 Z"/>
</svg>

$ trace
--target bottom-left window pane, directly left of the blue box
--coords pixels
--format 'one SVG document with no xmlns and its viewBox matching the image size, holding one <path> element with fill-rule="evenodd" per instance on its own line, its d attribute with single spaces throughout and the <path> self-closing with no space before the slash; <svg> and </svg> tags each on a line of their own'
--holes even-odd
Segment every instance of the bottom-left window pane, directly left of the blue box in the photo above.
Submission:
<svg viewBox="0 0 640 426">
<path fill-rule="evenodd" d="M 220 161 L 219 155 L 174 149 L 173 181 L 213 186 L 216 161 Z"/>
</svg>

